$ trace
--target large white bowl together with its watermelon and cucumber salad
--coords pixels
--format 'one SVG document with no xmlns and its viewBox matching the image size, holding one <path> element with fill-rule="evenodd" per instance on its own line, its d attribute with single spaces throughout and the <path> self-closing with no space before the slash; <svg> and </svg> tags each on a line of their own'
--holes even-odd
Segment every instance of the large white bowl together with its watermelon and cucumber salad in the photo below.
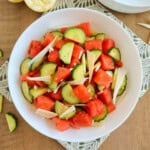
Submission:
<svg viewBox="0 0 150 150">
<path fill-rule="evenodd" d="M 70 8 L 42 16 L 23 32 L 8 83 L 17 110 L 34 129 L 81 142 L 111 133 L 128 118 L 141 70 L 136 47 L 118 23 L 95 10 Z"/>
</svg>

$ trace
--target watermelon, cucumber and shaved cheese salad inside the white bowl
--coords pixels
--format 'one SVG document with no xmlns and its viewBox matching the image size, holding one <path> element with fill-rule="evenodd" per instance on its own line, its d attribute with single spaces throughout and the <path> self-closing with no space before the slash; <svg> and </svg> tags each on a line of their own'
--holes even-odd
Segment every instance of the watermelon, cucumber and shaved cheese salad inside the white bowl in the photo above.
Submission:
<svg viewBox="0 0 150 150">
<path fill-rule="evenodd" d="M 32 40 L 20 65 L 24 98 L 59 131 L 101 123 L 116 109 L 127 72 L 115 41 L 89 22 Z"/>
</svg>

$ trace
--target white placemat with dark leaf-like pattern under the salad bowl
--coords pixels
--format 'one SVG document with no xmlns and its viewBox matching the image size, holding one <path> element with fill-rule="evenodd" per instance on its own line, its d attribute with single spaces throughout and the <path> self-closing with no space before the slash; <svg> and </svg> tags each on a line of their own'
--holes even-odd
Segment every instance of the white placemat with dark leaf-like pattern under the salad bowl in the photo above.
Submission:
<svg viewBox="0 0 150 150">
<path fill-rule="evenodd" d="M 139 50 L 141 57 L 142 68 L 143 68 L 143 85 L 141 88 L 140 97 L 150 88 L 150 46 L 138 38 L 126 25 L 123 24 L 119 19 L 112 15 L 106 8 L 104 8 L 98 0 L 57 0 L 54 10 L 69 8 L 69 7 L 86 7 L 90 9 L 96 9 L 104 13 L 106 16 L 113 18 L 118 22 L 129 35 L 132 37 L 135 45 Z M 0 93 L 11 102 L 11 97 L 7 84 L 7 67 L 8 61 L 0 67 Z M 67 142 L 58 141 L 67 150 L 97 150 L 100 145 L 107 139 L 109 135 L 95 139 L 90 142 Z"/>
</svg>

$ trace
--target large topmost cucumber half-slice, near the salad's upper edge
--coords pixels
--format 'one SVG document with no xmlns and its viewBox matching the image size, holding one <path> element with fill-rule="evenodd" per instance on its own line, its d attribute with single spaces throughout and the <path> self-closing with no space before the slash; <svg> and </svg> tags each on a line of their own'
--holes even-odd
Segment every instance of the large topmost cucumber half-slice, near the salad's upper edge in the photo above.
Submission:
<svg viewBox="0 0 150 150">
<path fill-rule="evenodd" d="M 85 32 L 82 29 L 76 27 L 66 30 L 64 33 L 64 37 L 80 44 L 83 44 L 86 40 Z"/>
</svg>

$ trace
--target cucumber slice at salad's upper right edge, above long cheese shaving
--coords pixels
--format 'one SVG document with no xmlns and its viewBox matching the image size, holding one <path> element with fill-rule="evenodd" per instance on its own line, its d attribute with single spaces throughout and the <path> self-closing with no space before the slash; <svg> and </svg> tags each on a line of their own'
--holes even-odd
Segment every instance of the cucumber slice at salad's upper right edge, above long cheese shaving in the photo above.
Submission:
<svg viewBox="0 0 150 150">
<path fill-rule="evenodd" d="M 108 51 L 108 55 L 111 56 L 115 61 L 121 60 L 121 54 L 119 48 L 112 48 Z"/>
</svg>

